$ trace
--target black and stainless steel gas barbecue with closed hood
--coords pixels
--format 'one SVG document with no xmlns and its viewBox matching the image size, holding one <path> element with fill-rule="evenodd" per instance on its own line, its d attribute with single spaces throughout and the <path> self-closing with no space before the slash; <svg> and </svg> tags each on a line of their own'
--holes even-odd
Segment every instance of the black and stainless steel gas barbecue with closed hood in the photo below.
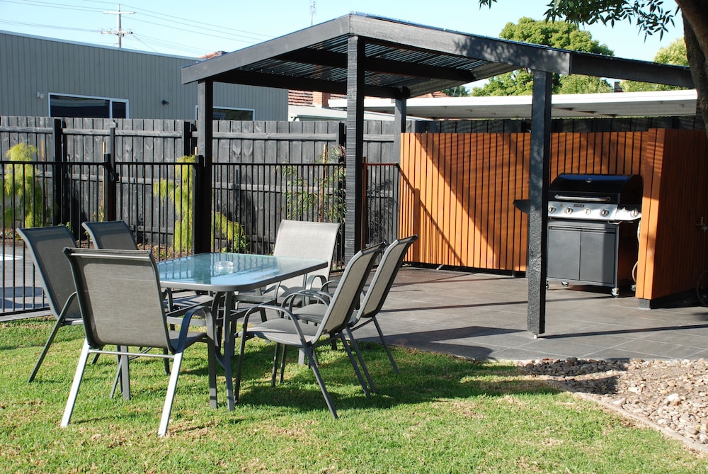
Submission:
<svg viewBox="0 0 708 474">
<path fill-rule="evenodd" d="M 559 174 L 549 186 L 547 276 L 564 286 L 632 283 L 641 176 Z"/>
</svg>

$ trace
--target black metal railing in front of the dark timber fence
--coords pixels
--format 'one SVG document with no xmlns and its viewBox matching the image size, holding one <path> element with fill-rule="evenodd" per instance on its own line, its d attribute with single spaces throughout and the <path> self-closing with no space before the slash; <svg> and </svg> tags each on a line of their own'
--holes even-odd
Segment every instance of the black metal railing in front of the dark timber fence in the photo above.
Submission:
<svg viewBox="0 0 708 474">
<path fill-rule="evenodd" d="M 81 223 L 113 214 L 156 259 L 192 254 L 194 176 L 198 162 L 0 161 L 5 192 L 0 314 L 47 306 L 16 227 L 67 225 L 88 246 Z M 282 219 L 343 222 L 343 164 L 212 164 L 211 247 L 270 254 Z M 397 237 L 399 168 L 366 166 L 367 244 Z M 61 177 L 62 179 L 57 179 Z M 343 266 L 343 235 L 335 266 Z"/>
</svg>

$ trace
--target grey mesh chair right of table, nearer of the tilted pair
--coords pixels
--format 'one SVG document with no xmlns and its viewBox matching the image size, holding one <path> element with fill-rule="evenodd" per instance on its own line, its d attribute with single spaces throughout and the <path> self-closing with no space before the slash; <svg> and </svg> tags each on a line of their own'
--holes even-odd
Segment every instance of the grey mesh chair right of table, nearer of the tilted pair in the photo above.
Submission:
<svg viewBox="0 0 708 474">
<path fill-rule="evenodd" d="M 359 295 L 364 283 L 366 282 L 368 273 L 371 271 L 374 264 L 374 259 L 383 250 L 383 248 L 384 244 L 380 244 L 376 247 L 361 250 L 352 257 L 347 264 L 346 269 L 344 269 L 341 283 L 332 295 L 329 305 L 305 305 L 304 307 L 297 307 L 294 309 L 288 309 L 286 307 L 275 305 L 264 305 L 261 306 L 261 308 L 274 310 L 275 312 L 278 312 L 281 317 L 275 317 L 265 322 L 260 322 L 252 327 L 249 327 L 249 316 L 257 312 L 258 307 L 254 307 L 246 312 L 244 317 L 244 325 L 241 333 L 239 334 L 241 337 L 241 349 L 239 351 L 239 363 L 236 368 L 236 384 L 234 387 L 236 401 L 238 401 L 239 390 L 241 388 L 241 371 L 243 368 L 244 354 L 246 351 L 246 340 L 253 337 L 259 337 L 270 342 L 275 342 L 273 372 L 270 379 L 270 383 L 273 386 L 275 385 L 275 378 L 278 375 L 278 352 L 280 349 L 282 349 L 280 354 L 281 383 L 282 372 L 285 367 L 285 348 L 287 346 L 293 346 L 304 351 L 304 354 L 307 356 L 307 360 L 309 361 L 309 366 L 312 368 L 317 383 L 319 384 L 319 388 L 324 396 L 324 400 L 327 403 L 327 407 L 329 407 L 329 411 L 334 418 L 337 418 L 338 415 L 331 397 L 329 396 L 329 393 L 324 385 L 324 380 L 322 380 L 320 375 L 319 366 L 314 356 L 314 350 L 323 344 L 329 344 L 331 341 L 339 339 L 346 349 L 349 360 L 354 368 L 360 384 L 362 385 L 362 388 L 365 393 L 369 395 L 366 388 L 366 383 L 362 378 L 349 345 L 343 336 L 343 331 L 347 327 L 347 323 L 350 320 L 354 308 L 359 303 Z M 315 326 L 308 325 L 307 323 L 300 323 L 300 316 L 309 311 L 311 307 L 323 307 L 324 317 L 322 318 L 320 325 Z"/>
</svg>

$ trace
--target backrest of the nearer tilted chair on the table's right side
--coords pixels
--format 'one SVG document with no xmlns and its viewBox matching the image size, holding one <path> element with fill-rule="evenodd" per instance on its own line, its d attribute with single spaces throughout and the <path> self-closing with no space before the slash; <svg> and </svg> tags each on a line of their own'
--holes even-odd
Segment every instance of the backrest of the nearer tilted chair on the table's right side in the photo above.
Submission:
<svg viewBox="0 0 708 474">
<path fill-rule="evenodd" d="M 319 325 L 319 334 L 338 332 L 351 319 L 376 257 L 386 244 L 360 250 L 349 261 Z"/>
</svg>

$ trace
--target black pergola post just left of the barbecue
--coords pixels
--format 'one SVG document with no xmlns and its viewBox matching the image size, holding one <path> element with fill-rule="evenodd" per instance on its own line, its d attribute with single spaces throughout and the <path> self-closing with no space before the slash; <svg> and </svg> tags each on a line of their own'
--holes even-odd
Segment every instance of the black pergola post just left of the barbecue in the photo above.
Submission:
<svg viewBox="0 0 708 474">
<path fill-rule="evenodd" d="M 551 145 L 551 81 L 553 74 L 534 71 L 529 170 L 529 240 L 527 331 L 546 332 L 548 186 Z"/>
</svg>

